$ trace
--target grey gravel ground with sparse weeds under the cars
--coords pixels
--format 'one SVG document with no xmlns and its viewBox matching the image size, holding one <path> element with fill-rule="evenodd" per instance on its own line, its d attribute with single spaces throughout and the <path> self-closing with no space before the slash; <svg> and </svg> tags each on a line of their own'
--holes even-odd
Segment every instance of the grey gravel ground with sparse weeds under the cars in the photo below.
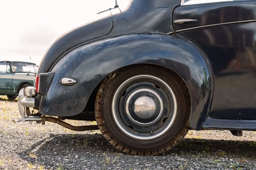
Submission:
<svg viewBox="0 0 256 170">
<path fill-rule="evenodd" d="M 256 132 L 189 130 L 168 153 L 141 157 L 115 150 L 99 130 L 16 123 L 17 102 L 6 99 L 0 96 L 0 169 L 256 169 Z"/>
</svg>

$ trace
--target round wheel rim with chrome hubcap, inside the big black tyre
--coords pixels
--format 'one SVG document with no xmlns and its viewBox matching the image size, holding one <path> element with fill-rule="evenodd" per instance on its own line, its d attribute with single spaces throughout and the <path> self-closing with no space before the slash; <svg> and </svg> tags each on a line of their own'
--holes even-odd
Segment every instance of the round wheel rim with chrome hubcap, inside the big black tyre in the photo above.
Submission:
<svg viewBox="0 0 256 170">
<path fill-rule="evenodd" d="M 112 114 L 125 135 L 137 140 L 156 139 L 172 127 L 177 116 L 177 99 L 162 79 L 136 75 L 115 91 Z"/>
</svg>

